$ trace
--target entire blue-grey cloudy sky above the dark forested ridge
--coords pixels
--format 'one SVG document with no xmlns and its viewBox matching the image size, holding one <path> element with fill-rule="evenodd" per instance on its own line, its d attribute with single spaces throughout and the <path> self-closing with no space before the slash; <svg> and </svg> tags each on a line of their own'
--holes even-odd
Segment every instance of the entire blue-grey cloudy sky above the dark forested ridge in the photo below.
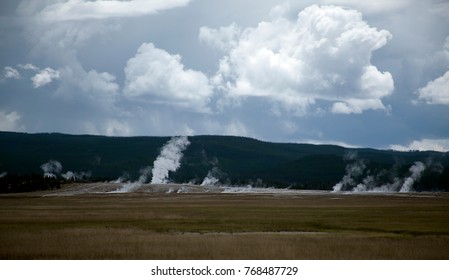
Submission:
<svg viewBox="0 0 449 280">
<path fill-rule="evenodd" d="M 2 0 L 0 130 L 449 151 L 449 1 Z"/>
</svg>

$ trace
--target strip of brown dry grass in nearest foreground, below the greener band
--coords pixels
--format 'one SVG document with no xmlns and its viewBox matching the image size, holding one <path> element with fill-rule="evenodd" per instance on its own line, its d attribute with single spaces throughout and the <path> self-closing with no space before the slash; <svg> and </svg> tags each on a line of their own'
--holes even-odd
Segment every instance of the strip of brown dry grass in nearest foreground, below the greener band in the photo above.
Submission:
<svg viewBox="0 0 449 280">
<path fill-rule="evenodd" d="M 0 251 L 2 259 L 446 259 L 449 238 L 75 229 L 2 237 Z"/>
</svg>

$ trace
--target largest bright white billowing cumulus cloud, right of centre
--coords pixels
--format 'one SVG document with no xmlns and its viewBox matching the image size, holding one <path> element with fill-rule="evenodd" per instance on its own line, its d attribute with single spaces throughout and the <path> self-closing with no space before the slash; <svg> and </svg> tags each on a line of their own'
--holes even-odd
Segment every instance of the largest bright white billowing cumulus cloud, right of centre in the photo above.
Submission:
<svg viewBox="0 0 449 280">
<path fill-rule="evenodd" d="M 254 28 L 200 30 L 200 40 L 227 50 L 212 79 L 227 98 L 268 98 L 299 114 L 316 100 L 334 103 L 334 113 L 386 109 L 393 78 L 371 56 L 391 37 L 355 10 L 317 5 L 296 21 L 278 14 Z"/>
</svg>

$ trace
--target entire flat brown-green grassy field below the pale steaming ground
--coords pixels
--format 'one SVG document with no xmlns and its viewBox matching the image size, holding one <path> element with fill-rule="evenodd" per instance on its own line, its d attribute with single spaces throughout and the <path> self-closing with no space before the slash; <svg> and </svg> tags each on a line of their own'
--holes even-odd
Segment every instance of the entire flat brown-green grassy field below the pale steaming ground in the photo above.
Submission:
<svg viewBox="0 0 449 280">
<path fill-rule="evenodd" d="M 0 259 L 449 259 L 449 195 L 4 195 Z"/>
</svg>

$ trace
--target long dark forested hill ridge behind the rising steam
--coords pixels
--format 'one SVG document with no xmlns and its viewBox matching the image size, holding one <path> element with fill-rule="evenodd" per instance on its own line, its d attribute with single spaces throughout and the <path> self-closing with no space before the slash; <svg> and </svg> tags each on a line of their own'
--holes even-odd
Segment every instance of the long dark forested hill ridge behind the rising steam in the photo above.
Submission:
<svg viewBox="0 0 449 280">
<path fill-rule="evenodd" d="M 50 160 L 60 173 L 89 180 L 136 179 L 152 166 L 170 137 L 106 137 L 0 132 L 0 175 L 43 174 Z M 201 184 L 209 174 L 223 184 L 332 189 L 344 176 L 352 185 L 406 178 L 413 165 L 425 170 L 415 190 L 449 190 L 449 153 L 349 149 L 334 145 L 269 143 L 232 136 L 192 136 L 173 182 Z M 359 167 L 359 173 L 352 173 Z M 361 168 L 360 168 L 361 167 Z M 59 171 L 58 171 L 59 172 Z M 348 179 L 348 177 L 347 177 Z"/>
</svg>

